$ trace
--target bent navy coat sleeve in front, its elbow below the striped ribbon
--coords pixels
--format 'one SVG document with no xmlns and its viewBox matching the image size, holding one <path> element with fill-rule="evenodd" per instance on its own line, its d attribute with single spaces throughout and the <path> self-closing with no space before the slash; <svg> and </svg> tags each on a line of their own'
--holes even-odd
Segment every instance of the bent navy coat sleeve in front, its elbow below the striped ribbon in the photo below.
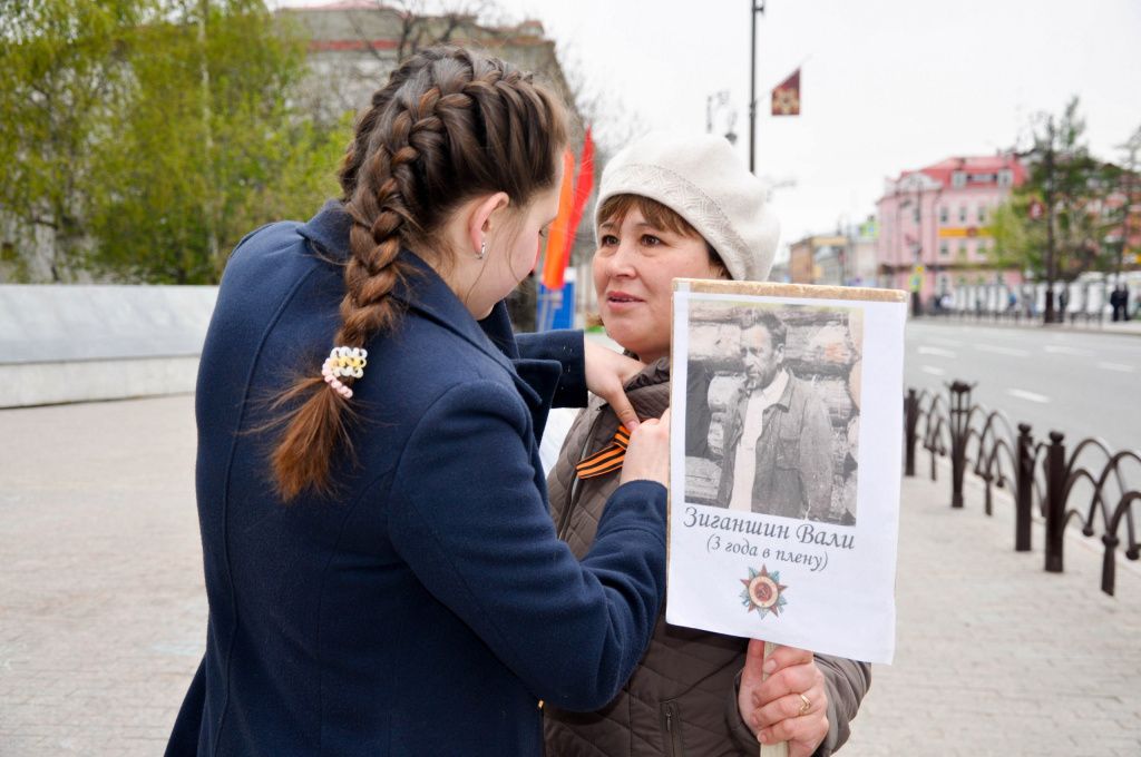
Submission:
<svg viewBox="0 0 1141 757">
<path fill-rule="evenodd" d="M 489 381 L 423 415 L 393 479 L 389 534 L 424 587 L 539 699 L 608 702 L 649 644 L 665 591 L 665 488 L 620 487 L 580 563 L 555 534 L 529 416 Z"/>
</svg>

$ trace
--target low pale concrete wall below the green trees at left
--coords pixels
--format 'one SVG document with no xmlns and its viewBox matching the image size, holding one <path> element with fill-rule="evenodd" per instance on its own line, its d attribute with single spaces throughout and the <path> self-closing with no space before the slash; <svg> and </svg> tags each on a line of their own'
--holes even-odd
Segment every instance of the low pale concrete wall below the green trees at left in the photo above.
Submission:
<svg viewBox="0 0 1141 757">
<path fill-rule="evenodd" d="M 213 286 L 0 285 L 0 407 L 194 391 Z"/>
</svg>

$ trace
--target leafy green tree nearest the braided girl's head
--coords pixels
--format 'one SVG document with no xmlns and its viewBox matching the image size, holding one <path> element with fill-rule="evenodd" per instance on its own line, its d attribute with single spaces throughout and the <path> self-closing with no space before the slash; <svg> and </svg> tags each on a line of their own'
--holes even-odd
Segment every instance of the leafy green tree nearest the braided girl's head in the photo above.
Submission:
<svg viewBox="0 0 1141 757">
<path fill-rule="evenodd" d="M 169 8 L 130 56 L 131 107 L 96 161 L 90 264 L 129 280 L 218 279 L 229 250 L 334 194 L 348 123 L 323 129 L 290 95 L 305 40 L 260 0 Z"/>
</svg>

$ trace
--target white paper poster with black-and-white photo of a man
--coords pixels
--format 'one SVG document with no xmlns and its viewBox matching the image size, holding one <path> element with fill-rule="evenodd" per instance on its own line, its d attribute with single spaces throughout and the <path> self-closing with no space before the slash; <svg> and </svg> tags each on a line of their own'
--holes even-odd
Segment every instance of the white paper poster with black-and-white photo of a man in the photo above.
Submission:
<svg viewBox="0 0 1141 757">
<path fill-rule="evenodd" d="M 906 294 L 678 279 L 666 620 L 895 650 Z"/>
</svg>

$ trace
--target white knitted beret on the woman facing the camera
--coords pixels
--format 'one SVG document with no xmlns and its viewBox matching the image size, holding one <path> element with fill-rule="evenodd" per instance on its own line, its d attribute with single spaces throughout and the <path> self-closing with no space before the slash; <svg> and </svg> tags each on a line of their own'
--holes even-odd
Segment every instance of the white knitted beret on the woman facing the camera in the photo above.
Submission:
<svg viewBox="0 0 1141 757">
<path fill-rule="evenodd" d="M 615 155 L 602 171 L 598 212 L 615 195 L 662 203 L 697 229 L 742 282 L 768 278 L 780 226 L 760 179 L 723 137 L 650 132 Z"/>
</svg>

